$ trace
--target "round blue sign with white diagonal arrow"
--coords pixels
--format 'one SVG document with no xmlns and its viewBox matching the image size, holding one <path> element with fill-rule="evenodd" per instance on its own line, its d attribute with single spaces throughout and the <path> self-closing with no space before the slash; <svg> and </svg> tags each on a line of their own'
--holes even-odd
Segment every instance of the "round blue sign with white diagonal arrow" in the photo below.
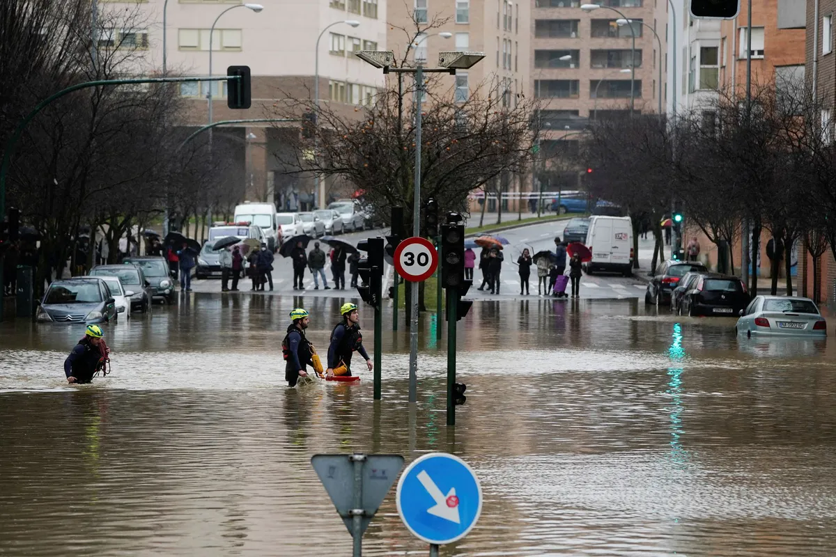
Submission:
<svg viewBox="0 0 836 557">
<path fill-rule="evenodd" d="M 400 476 L 398 514 L 429 544 L 451 544 L 471 531 L 482 513 L 482 487 L 472 468 L 447 453 L 429 453 Z"/>
</svg>

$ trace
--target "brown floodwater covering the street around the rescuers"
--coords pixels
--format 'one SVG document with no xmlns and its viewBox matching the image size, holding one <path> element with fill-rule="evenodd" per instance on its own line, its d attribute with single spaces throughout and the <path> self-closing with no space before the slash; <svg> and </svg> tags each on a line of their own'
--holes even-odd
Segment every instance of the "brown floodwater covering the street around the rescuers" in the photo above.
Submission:
<svg viewBox="0 0 836 557">
<path fill-rule="evenodd" d="M 637 301 L 475 304 L 467 403 L 445 425 L 446 340 L 384 312 L 383 397 L 283 385 L 288 311 L 324 352 L 339 299 L 192 295 L 106 327 L 113 373 L 69 387 L 81 327 L 0 324 L 0 554 L 347 555 L 315 453 L 456 453 L 485 505 L 444 555 L 836 554 L 836 341 L 736 339 Z M 371 347 L 371 311 L 364 311 Z M 830 325 L 833 330 L 833 323 Z M 394 488 L 366 555 L 426 554 Z"/>
</svg>

